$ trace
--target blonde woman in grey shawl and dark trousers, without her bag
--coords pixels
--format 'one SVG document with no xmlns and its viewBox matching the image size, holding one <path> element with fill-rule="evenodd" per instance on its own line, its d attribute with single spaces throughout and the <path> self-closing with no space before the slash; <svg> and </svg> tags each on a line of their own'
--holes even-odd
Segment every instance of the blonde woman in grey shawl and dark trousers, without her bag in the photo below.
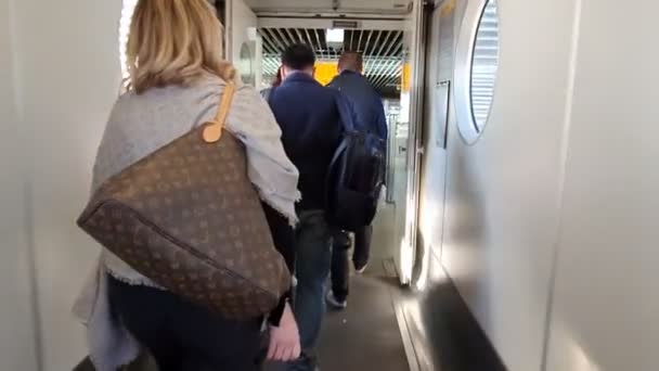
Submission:
<svg viewBox="0 0 659 371">
<path fill-rule="evenodd" d="M 235 81 L 222 61 L 222 29 L 206 0 L 139 0 L 128 41 L 128 91 L 116 102 L 99 148 L 92 189 L 212 119 L 227 84 L 237 84 L 225 129 L 247 150 L 248 175 L 263 201 L 273 239 L 293 266 L 298 171 L 259 93 Z M 256 370 L 262 318 L 231 321 L 163 290 L 109 252 L 76 303 L 90 357 L 115 371 L 146 348 L 160 371 Z M 269 316 L 274 360 L 299 356 L 287 296 Z"/>
</svg>

